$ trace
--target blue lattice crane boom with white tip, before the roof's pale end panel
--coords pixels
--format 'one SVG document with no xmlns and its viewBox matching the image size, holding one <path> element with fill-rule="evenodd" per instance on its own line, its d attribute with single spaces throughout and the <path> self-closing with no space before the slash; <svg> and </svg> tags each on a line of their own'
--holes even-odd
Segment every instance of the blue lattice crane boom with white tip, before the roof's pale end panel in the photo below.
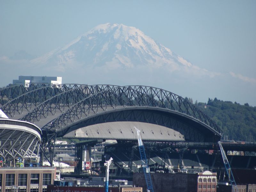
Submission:
<svg viewBox="0 0 256 192">
<path fill-rule="evenodd" d="M 138 136 L 138 146 L 139 146 L 139 150 L 140 150 L 140 158 L 141 158 L 142 167 L 143 167 L 143 171 L 144 171 L 144 175 L 145 175 L 145 180 L 147 183 L 147 192 L 154 192 L 150 173 L 149 173 L 149 168 L 148 168 L 148 161 L 146 158 L 145 149 L 144 149 L 144 146 L 143 146 L 143 143 L 141 140 L 141 136 L 140 136 L 140 130 L 137 129 L 136 127 L 134 127 L 134 128 L 135 128 L 135 130 L 137 132 L 137 136 Z"/>
</svg>

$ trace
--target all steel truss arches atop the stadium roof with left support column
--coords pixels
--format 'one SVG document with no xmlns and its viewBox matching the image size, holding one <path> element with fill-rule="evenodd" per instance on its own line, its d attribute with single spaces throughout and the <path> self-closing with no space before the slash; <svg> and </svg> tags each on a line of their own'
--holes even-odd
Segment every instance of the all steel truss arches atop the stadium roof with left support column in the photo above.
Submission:
<svg viewBox="0 0 256 192">
<path fill-rule="evenodd" d="M 222 134 L 221 129 L 188 100 L 148 86 L 31 84 L 25 88 L 24 85 L 17 85 L 0 90 L 0 108 L 11 118 L 19 115 L 20 120 L 31 123 L 42 119 L 47 121 L 52 116 L 41 127 L 46 133 L 43 134 L 45 146 L 41 148 L 49 148 L 52 155 L 56 135 L 63 136 L 76 124 L 118 110 L 165 110 L 193 119 L 219 137 Z"/>
</svg>

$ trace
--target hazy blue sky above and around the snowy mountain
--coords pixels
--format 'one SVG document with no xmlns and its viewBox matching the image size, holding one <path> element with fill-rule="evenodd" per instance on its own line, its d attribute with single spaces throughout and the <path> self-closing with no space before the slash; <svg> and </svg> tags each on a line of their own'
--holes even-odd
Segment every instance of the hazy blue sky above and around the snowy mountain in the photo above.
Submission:
<svg viewBox="0 0 256 192">
<path fill-rule="evenodd" d="M 256 1 L 0 1 L 0 57 L 41 56 L 96 25 L 123 23 L 201 68 L 244 79 L 236 97 L 256 105 Z M 0 62 L 0 65 L 1 64 Z M 18 76 L 10 75 L 9 83 Z M 33 74 L 22 74 L 33 75 Z M 1 79 L 0 86 L 7 80 Z M 228 80 L 227 80 L 228 81 Z M 68 82 L 64 82 L 68 83 Z M 219 82 L 220 83 L 220 82 Z M 225 82 L 222 82 L 225 84 Z M 227 86 L 232 85 L 228 82 Z M 211 86 L 217 86 L 211 85 Z M 233 86 L 236 86 L 234 82 Z M 159 86 L 160 87 L 160 86 Z M 222 89 L 221 92 L 225 91 Z M 172 91 L 172 90 L 170 90 Z M 173 91 L 174 92 L 174 91 Z M 185 96 L 195 96 L 189 90 Z M 179 94 L 179 93 L 177 93 Z M 185 94 L 182 92 L 182 94 Z M 230 95 L 236 92 L 230 92 Z M 220 93 L 216 96 L 221 97 Z M 250 95 L 248 101 L 243 95 Z M 184 95 L 183 95 L 184 96 Z M 195 98 L 197 97 L 197 98 Z M 209 97 L 214 97 L 209 95 Z M 201 101 L 207 101 L 208 98 Z"/>
</svg>

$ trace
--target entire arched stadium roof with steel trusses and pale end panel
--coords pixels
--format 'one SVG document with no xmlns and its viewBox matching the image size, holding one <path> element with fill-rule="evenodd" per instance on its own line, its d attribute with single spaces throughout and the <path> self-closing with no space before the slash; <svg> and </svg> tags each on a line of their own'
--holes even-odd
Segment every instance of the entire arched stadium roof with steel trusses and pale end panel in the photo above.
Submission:
<svg viewBox="0 0 256 192">
<path fill-rule="evenodd" d="M 94 139 L 131 139 L 134 122 L 149 140 L 213 141 L 222 134 L 188 100 L 140 85 L 16 85 L 0 90 L 0 108 L 11 119 L 36 124 L 43 135 L 52 132 L 58 137 L 77 133 Z"/>
</svg>

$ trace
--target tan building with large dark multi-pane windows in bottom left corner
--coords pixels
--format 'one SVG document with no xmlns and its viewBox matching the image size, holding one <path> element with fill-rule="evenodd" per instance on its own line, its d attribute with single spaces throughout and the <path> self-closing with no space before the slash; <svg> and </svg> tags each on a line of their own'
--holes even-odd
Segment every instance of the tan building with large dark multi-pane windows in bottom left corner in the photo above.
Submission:
<svg viewBox="0 0 256 192">
<path fill-rule="evenodd" d="M 0 192 L 46 192 L 55 177 L 54 167 L 1 167 Z"/>
</svg>

